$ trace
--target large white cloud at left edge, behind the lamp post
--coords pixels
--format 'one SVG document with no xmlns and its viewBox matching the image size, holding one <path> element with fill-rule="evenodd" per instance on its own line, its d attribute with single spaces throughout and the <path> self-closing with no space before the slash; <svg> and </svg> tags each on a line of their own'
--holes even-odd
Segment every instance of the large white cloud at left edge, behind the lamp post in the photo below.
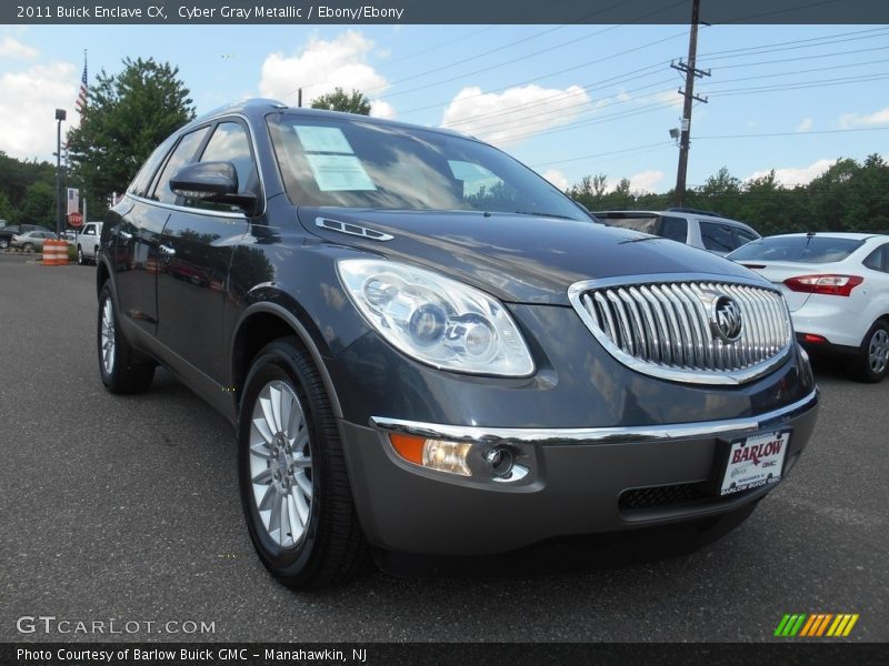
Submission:
<svg viewBox="0 0 889 666">
<path fill-rule="evenodd" d="M 56 109 L 67 109 L 62 132 L 77 125 L 77 68 L 68 62 L 34 65 L 0 75 L 0 147 L 14 158 L 49 160 L 56 150 Z"/>
</svg>

